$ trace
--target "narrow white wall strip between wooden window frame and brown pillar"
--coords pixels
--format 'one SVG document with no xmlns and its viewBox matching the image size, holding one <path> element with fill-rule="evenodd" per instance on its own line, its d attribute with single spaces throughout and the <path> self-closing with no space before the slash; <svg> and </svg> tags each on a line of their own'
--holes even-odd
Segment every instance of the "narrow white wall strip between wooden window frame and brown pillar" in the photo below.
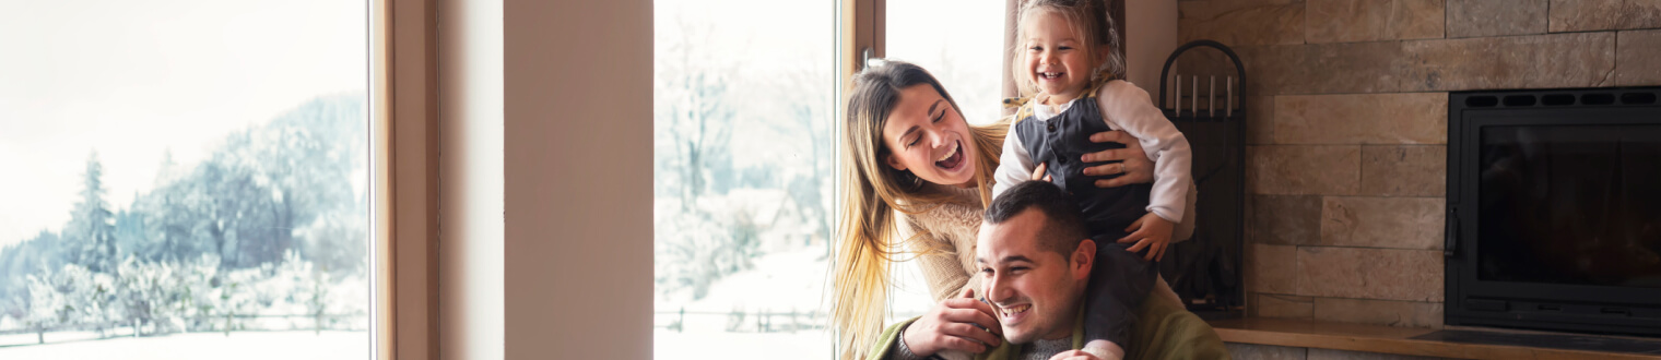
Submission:
<svg viewBox="0 0 1661 360">
<path fill-rule="evenodd" d="M 503 3 L 437 5 L 439 353 L 503 358 Z"/>
</svg>

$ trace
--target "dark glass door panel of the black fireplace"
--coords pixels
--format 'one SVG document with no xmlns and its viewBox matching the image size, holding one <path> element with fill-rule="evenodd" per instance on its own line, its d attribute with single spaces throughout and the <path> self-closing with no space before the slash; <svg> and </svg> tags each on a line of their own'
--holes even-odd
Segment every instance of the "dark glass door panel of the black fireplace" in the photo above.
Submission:
<svg viewBox="0 0 1661 360">
<path fill-rule="evenodd" d="M 1661 287 L 1661 124 L 1485 126 L 1477 277 Z"/>
</svg>

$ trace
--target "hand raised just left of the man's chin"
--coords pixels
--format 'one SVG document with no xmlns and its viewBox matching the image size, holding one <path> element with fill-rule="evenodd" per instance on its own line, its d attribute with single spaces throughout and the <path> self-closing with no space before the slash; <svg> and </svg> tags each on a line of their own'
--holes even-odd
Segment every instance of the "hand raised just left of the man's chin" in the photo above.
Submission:
<svg viewBox="0 0 1661 360">
<path fill-rule="evenodd" d="M 1003 333 L 993 314 L 992 305 L 975 300 L 973 289 L 963 289 L 960 297 L 945 299 L 922 319 L 912 322 L 900 342 L 905 342 L 905 347 L 919 357 L 935 355 L 942 350 L 982 353 L 987 352 L 987 347 L 998 345 L 998 337 Z"/>
</svg>

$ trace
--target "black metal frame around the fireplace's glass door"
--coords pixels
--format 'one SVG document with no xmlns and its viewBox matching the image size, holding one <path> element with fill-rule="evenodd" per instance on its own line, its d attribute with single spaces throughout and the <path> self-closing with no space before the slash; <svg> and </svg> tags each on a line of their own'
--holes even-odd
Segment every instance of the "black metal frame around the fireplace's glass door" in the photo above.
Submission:
<svg viewBox="0 0 1661 360">
<path fill-rule="evenodd" d="M 1448 95 L 1443 307 L 1447 325 L 1661 337 L 1661 289 L 1477 279 L 1480 128 L 1495 124 L 1661 124 L 1661 88 L 1455 91 Z M 1570 114 L 1570 116 L 1565 116 Z M 1575 118 L 1581 121 L 1565 121 Z M 1593 116 L 1588 116 L 1593 114 Z M 1596 116 L 1618 114 L 1618 116 Z M 1560 116 L 1545 119 L 1545 116 Z M 1661 201 L 1661 199 L 1658 199 Z M 1463 204 L 1463 206 L 1462 206 Z"/>
</svg>

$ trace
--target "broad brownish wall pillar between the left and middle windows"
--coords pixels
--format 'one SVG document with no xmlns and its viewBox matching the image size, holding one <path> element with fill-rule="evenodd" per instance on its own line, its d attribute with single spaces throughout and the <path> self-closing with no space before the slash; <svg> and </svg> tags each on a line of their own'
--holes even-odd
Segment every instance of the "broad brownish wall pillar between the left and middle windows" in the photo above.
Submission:
<svg viewBox="0 0 1661 360">
<path fill-rule="evenodd" d="M 651 358 L 651 2 L 503 10 L 507 357 Z"/>
</svg>

